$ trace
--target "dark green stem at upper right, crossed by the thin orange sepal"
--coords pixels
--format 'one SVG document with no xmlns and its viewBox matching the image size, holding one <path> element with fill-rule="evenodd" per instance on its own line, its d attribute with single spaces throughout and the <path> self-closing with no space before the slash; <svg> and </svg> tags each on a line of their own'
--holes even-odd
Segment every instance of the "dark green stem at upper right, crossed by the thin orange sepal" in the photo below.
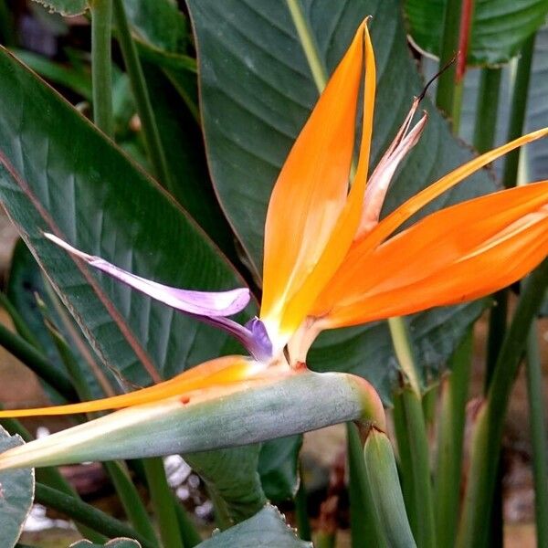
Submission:
<svg viewBox="0 0 548 548">
<path fill-rule="evenodd" d="M 535 38 L 536 33 L 534 33 L 532 37 L 529 37 L 522 46 L 521 57 L 518 61 L 518 68 L 511 93 L 511 111 L 507 141 L 517 139 L 523 132 L 525 111 L 527 110 L 529 82 L 531 81 L 532 54 L 534 51 Z M 502 174 L 502 183 L 506 188 L 516 185 L 519 164 L 519 150 L 511 151 L 511 153 L 506 154 L 504 171 Z"/>
</svg>

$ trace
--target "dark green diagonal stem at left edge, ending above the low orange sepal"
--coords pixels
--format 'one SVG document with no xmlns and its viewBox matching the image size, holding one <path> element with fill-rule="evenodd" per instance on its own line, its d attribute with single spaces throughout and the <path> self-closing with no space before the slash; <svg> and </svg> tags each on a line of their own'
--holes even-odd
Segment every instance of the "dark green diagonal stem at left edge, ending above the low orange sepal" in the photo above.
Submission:
<svg viewBox="0 0 548 548">
<path fill-rule="evenodd" d="M 0 324 L 0 345 L 36 373 L 58 395 L 69 402 L 76 401 L 77 394 L 67 376 L 58 372 L 53 364 L 21 336 Z"/>
</svg>

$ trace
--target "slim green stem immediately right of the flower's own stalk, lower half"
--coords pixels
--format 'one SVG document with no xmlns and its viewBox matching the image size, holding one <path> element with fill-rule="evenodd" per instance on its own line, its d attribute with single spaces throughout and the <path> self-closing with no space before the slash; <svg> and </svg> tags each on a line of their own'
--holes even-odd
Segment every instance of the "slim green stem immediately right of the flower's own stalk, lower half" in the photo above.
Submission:
<svg viewBox="0 0 548 548">
<path fill-rule="evenodd" d="M 437 546 L 434 503 L 428 456 L 428 437 L 420 396 L 408 388 L 402 393 L 406 429 L 411 452 L 414 504 L 416 509 L 416 543 L 420 548 Z"/>
</svg>

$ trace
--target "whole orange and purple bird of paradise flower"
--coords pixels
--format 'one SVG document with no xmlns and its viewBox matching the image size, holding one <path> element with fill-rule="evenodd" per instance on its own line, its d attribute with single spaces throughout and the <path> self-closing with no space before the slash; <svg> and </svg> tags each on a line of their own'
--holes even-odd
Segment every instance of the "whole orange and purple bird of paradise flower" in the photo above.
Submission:
<svg viewBox="0 0 548 548">
<path fill-rule="evenodd" d="M 353 170 L 361 90 L 362 132 Z M 452 205 L 396 231 L 469 174 L 543 137 L 548 130 L 532 132 L 459 166 L 380 220 L 390 181 L 398 164 L 418 142 L 427 114 L 414 123 L 419 99 L 414 100 L 394 142 L 368 175 L 374 96 L 374 50 L 364 22 L 279 173 L 265 226 L 260 314 L 246 325 L 228 316 L 245 308 L 248 290 L 176 290 L 118 269 L 46 234 L 58 246 L 111 277 L 196 320 L 226 330 L 248 349 L 249 356 L 221 357 L 127 395 L 68 406 L 5 411 L 0 416 L 125 408 L 11 449 L 0 457 L 0 468 L 59 463 L 63 458 L 51 455 L 52 451 L 62 452 L 62 448 L 71 448 L 66 461 L 100 458 L 102 454 L 91 451 L 86 440 L 119 430 L 131 437 L 132 427 L 151 417 L 248 388 L 268 390 L 280 379 L 306 371 L 307 351 L 322 330 L 473 300 L 522 278 L 543 260 L 548 249 L 546 181 Z M 363 380 L 360 383 L 374 394 Z M 312 383 L 310 389 L 314 386 Z M 371 402 L 371 416 L 382 422 L 378 396 L 373 395 Z M 275 419 L 272 417 L 273 422 Z M 264 435 L 268 437 L 269 432 Z M 84 448 L 80 452 L 75 449 L 79 444 Z M 142 456 L 154 451 L 163 454 L 163 450 L 167 449 L 142 451 Z M 138 455 L 123 451 L 110 454 L 111 458 L 127 456 Z"/>
</svg>

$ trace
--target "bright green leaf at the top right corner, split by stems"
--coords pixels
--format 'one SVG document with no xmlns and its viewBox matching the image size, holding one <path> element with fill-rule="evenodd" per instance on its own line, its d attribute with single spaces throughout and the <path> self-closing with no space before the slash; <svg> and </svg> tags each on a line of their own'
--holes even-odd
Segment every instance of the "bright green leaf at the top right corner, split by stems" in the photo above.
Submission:
<svg viewBox="0 0 548 548">
<path fill-rule="evenodd" d="M 447 0 L 406 0 L 409 30 L 416 44 L 439 55 Z M 497 64 L 517 55 L 523 42 L 543 25 L 544 0 L 479 0 L 474 3 L 468 63 Z"/>
</svg>

